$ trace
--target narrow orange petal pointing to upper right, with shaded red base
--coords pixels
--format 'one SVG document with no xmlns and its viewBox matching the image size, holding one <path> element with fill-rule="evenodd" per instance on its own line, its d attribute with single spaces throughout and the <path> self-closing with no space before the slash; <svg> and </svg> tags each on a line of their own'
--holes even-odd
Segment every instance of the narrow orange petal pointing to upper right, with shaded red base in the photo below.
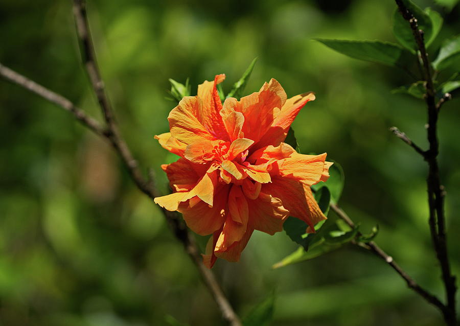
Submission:
<svg viewBox="0 0 460 326">
<path fill-rule="evenodd" d="M 312 92 L 296 95 L 288 99 L 281 108 L 280 114 L 274 119 L 271 127 L 260 139 L 257 147 L 267 145 L 277 146 L 280 142 L 283 142 L 298 112 L 307 102 L 314 100 L 315 95 Z"/>
</svg>

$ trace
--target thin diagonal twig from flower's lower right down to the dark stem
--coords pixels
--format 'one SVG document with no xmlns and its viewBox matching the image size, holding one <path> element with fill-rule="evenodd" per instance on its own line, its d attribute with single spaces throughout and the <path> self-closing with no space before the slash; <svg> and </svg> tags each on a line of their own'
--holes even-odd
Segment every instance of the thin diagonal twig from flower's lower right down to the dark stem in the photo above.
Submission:
<svg viewBox="0 0 460 326">
<path fill-rule="evenodd" d="M 337 204 L 331 204 L 332 210 L 337 214 L 339 218 L 345 221 L 352 228 L 355 227 L 355 223 L 350 219 L 350 217 L 341 209 Z M 357 237 L 361 236 L 361 232 L 358 231 Z M 436 297 L 435 295 L 429 293 L 427 290 L 423 289 L 417 282 L 415 282 L 393 259 L 385 253 L 374 241 L 363 243 L 354 241 L 353 244 L 360 246 L 364 249 L 367 249 L 377 255 L 379 258 L 383 259 L 388 265 L 390 265 L 406 282 L 407 286 L 413 291 L 420 294 L 425 300 L 430 302 L 430 304 L 438 307 L 441 311 L 445 311 L 447 307 Z"/>
</svg>

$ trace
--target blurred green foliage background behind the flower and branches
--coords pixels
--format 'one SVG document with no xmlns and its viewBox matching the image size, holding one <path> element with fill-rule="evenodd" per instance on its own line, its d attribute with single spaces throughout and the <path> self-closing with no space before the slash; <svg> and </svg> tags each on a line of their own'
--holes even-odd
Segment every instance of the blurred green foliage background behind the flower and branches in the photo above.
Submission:
<svg viewBox="0 0 460 326">
<path fill-rule="evenodd" d="M 460 8 L 416 2 L 445 18 L 435 55 L 436 45 L 460 31 Z M 390 0 L 94 0 L 88 15 L 122 133 L 144 171 L 156 171 L 162 191 L 168 188 L 159 166 L 170 157 L 153 135 L 168 131 L 175 106 L 165 99 L 168 78 L 190 77 L 196 94 L 198 83 L 225 73 L 228 91 L 257 56 L 245 94 L 270 78 L 288 97 L 316 92 L 293 124 L 301 149 L 328 152 L 342 164 L 340 205 L 363 231 L 378 224 L 377 243 L 443 297 L 428 232 L 427 166 L 388 131 L 396 125 L 427 146 L 424 103 L 390 92 L 413 80 L 311 40 L 396 42 L 395 7 Z M 70 1 L 0 0 L 0 62 L 100 119 L 74 27 Z M 439 122 L 457 275 L 459 103 L 445 104 Z M 0 325 L 225 325 L 158 207 L 134 187 L 106 143 L 62 109 L 3 80 L 0 106 Z M 203 248 L 206 239 L 198 241 Z M 273 325 L 442 324 L 438 310 L 369 252 L 350 246 L 271 268 L 295 249 L 284 232 L 256 232 L 240 263 L 217 262 L 214 272 L 240 315 L 274 290 Z"/>
</svg>

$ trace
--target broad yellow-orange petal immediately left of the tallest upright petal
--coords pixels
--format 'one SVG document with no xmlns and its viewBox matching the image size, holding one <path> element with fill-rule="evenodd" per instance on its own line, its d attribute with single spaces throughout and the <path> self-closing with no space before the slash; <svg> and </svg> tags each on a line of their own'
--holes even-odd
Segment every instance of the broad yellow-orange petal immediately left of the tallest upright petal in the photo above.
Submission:
<svg viewBox="0 0 460 326">
<path fill-rule="evenodd" d="M 215 137 L 196 118 L 198 111 L 202 111 L 203 103 L 196 96 L 183 98 L 168 115 L 171 135 L 178 141 L 191 144 L 197 141 Z"/>
</svg>

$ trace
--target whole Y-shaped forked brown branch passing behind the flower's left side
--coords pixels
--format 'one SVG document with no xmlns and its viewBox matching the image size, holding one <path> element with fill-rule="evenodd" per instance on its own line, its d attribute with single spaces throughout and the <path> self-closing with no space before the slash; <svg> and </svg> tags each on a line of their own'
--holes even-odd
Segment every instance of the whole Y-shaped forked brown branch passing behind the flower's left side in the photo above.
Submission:
<svg viewBox="0 0 460 326">
<path fill-rule="evenodd" d="M 146 180 L 142 175 L 141 170 L 137 165 L 137 161 L 133 158 L 126 142 L 121 137 L 116 121 L 113 118 L 113 111 L 105 94 L 104 84 L 100 78 L 99 69 L 96 65 L 93 44 L 89 37 L 86 12 L 84 8 L 85 6 L 83 2 L 75 1 L 74 13 L 77 20 L 79 36 L 82 38 L 84 44 L 85 66 L 87 68 L 91 84 L 95 89 L 98 102 L 104 113 L 107 127 L 102 126 L 97 120 L 89 117 L 83 110 L 78 108 L 70 100 L 14 72 L 12 69 L 2 64 L 0 64 L 0 76 L 33 92 L 34 94 L 42 97 L 45 100 L 48 100 L 49 102 L 63 108 L 64 110 L 71 112 L 74 115 L 74 118 L 77 119 L 85 127 L 108 139 L 113 148 L 120 155 L 137 188 L 139 188 L 139 190 L 141 190 L 144 194 L 153 199 L 154 197 L 159 196 L 159 193 L 153 186 L 152 180 Z M 241 326 L 241 322 L 238 316 L 236 315 L 232 306 L 229 304 L 228 299 L 225 297 L 225 294 L 219 286 L 215 275 L 211 270 L 204 266 L 201 254 L 195 243 L 195 239 L 190 235 L 187 227 L 181 221 L 178 214 L 175 212 L 166 211 L 165 209 L 163 209 L 163 214 L 174 235 L 183 244 L 186 252 L 189 254 L 193 263 L 197 266 L 198 272 L 200 273 L 204 284 L 208 287 L 220 311 L 222 312 L 223 318 L 227 320 L 232 326 Z"/>
</svg>

